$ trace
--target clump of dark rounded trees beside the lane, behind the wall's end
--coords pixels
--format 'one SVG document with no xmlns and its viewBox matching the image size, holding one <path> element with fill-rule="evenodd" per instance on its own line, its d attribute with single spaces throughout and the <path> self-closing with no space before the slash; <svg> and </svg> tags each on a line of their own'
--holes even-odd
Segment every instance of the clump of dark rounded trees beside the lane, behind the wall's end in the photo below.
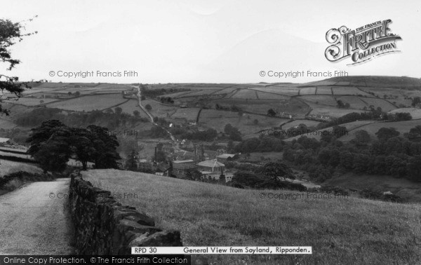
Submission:
<svg viewBox="0 0 421 265">
<path fill-rule="evenodd" d="M 39 162 L 44 172 L 62 172 L 69 158 L 80 161 L 83 170 L 88 162 L 95 168 L 119 168 L 119 142 L 109 130 L 96 125 L 87 128 L 67 127 L 58 120 L 49 120 L 31 130 L 27 139 L 28 153 Z"/>
</svg>

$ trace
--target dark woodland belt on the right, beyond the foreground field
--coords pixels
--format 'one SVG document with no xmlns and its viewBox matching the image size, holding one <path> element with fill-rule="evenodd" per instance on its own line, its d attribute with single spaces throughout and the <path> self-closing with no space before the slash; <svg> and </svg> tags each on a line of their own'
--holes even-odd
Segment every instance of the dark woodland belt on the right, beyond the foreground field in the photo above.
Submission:
<svg viewBox="0 0 421 265">
<path fill-rule="evenodd" d="M 337 133 L 340 132 L 339 129 Z M 234 149 L 243 153 L 283 151 L 284 161 L 309 172 L 319 182 L 337 172 L 421 181 L 421 125 L 403 135 L 394 128 L 380 128 L 375 139 L 365 130 L 359 130 L 347 143 L 338 140 L 338 136 L 322 135 L 321 140 L 302 136 L 291 142 L 266 136 L 245 140 Z"/>
</svg>

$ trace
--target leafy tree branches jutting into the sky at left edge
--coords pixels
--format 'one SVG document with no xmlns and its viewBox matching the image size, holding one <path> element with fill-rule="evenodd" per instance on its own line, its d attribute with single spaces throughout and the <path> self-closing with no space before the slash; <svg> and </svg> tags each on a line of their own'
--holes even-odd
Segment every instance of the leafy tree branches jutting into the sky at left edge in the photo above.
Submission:
<svg viewBox="0 0 421 265">
<path fill-rule="evenodd" d="M 32 21 L 30 19 L 29 21 Z M 30 36 L 37 32 L 23 33 L 25 25 L 22 22 L 11 22 L 11 20 L 0 19 L 0 61 L 8 64 L 7 70 L 11 70 L 15 65 L 20 64 L 20 60 L 14 59 L 11 55 L 11 46 L 16 42 L 22 41 L 24 36 Z M 0 91 L 13 93 L 20 97 L 25 88 L 31 88 L 29 83 L 20 82 L 18 76 L 7 76 L 0 74 Z M 1 102 L 1 98 L 0 98 Z M 9 114 L 8 109 L 3 109 L 0 104 L 0 114 Z"/>
</svg>

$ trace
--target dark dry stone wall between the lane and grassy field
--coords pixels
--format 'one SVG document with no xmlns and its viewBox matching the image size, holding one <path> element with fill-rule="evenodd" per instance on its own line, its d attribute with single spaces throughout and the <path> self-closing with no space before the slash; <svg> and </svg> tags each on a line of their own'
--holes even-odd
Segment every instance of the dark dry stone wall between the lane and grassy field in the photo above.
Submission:
<svg viewBox="0 0 421 265">
<path fill-rule="evenodd" d="M 69 208 L 77 254 L 131 254 L 131 247 L 182 246 L 179 231 L 156 228 L 151 217 L 117 203 L 110 191 L 95 188 L 79 172 L 71 175 Z"/>
</svg>

